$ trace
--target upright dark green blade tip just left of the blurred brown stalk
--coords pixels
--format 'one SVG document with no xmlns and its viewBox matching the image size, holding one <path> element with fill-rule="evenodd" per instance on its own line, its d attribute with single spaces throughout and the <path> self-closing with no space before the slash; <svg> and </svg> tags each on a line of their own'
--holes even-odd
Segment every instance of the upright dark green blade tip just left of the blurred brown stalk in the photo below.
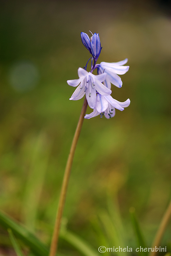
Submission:
<svg viewBox="0 0 171 256">
<path fill-rule="evenodd" d="M 139 227 L 139 224 L 138 224 L 138 221 L 136 219 L 136 215 L 135 215 L 135 208 L 134 207 L 131 207 L 129 209 L 129 213 L 131 215 L 131 220 L 132 220 L 132 224 L 133 224 L 133 227 L 134 227 L 134 231 L 135 231 L 135 234 L 136 234 L 136 237 L 137 237 L 137 241 L 138 241 L 138 246 L 140 247 L 143 247 L 143 248 L 146 248 L 146 244 L 145 244 L 145 241 L 143 239 L 143 235 L 142 235 L 142 232 L 140 230 L 140 227 Z M 148 252 L 139 252 L 139 255 L 148 255 Z"/>
</svg>

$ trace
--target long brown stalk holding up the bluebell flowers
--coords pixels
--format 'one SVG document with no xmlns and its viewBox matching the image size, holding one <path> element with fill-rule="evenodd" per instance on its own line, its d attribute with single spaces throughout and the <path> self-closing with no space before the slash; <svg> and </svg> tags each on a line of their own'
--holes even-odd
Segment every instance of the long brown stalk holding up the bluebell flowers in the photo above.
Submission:
<svg viewBox="0 0 171 256">
<path fill-rule="evenodd" d="M 60 199 L 59 199 L 59 207 L 58 207 L 58 210 L 57 210 L 57 213 L 56 213 L 54 233 L 53 233 L 53 237 L 52 237 L 52 241 L 51 241 L 49 256 L 55 256 L 56 255 L 58 238 L 59 238 L 59 231 L 60 231 L 60 225 L 61 225 L 61 219 L 62 219 L 62 214 L 63 214 L 63 211 L 64 211 L 66 192 L 67 192 L 67 188 L 68 188 L 68 182 L 69 182 L 69 178 L 70 178 L 72 162 L 73 162 L 73 158 L 74 158 L 74 154 L 75 154 L 79 134 L 81 132 L 82 124 L 83 124 L 83 121 L 84 121 L 84 116 L 86 114 L 87 105 L 88 105 L 88 103 L 87 103 L 87 100 L 86 100 L 86 97 L 85 97 L 83 107 L 82 107 L 82 110 L 81 110 L 81 114 L 80 114 L 80 117 L 79 117 L 79 121 L 78 121 L 78 124 L 77 124 L 77 128 L 76 128 L 76 131 L 75 131 L 75 134 L 74 134 L 74 137 L 73 137 L 73 141 L 72 141 L 72 145 L 71 145 L 71 149 L 70 149 L 70 154 L 68 156 L 68 160 L 67 160 L 67 164 L 66 164 L 66 168 L 65 168 L 65 173 L 64 173 L 64 178 L 63 178 L 61 193 L 60 193 Z"/>
</svg>

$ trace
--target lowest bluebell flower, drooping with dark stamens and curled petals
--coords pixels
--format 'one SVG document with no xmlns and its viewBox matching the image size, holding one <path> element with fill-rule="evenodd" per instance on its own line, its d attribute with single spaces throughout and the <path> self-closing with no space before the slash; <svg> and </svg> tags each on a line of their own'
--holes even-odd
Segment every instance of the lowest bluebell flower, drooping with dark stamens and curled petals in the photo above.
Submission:
<svg viewBox="0 0 171 256">
<path fill-rule="evenodd" d="M 112 98 L 111 95 L 100 95 L 96 96 L 96 104 L 92 113 L 86 114 L 84 118 L 90 119 L 92 117 L 98 116 L 103 117 L 105 115 L 106 118 L 111 118 L 115 116 L 115 108 L 120 111 L 123 111 L 125 107 L 128 107 L 130 104 L 130 100 L 127 99 L 124 102 L 120 102 Z"/>
</svg>

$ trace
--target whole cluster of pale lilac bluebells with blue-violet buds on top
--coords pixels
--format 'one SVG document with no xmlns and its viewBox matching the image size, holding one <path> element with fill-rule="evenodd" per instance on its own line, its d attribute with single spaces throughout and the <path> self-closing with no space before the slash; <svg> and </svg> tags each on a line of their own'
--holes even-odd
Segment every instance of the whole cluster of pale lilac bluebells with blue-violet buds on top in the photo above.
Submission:
<svg viewBox="0 0 171 256">
<path fill-rule="evenodd" d="M 110 95 L 112 92 L 111 84 L 119 88 L 122 86 L 122 80 L 118 75 L 123 75 L 128 71 L 129 66 L 123 66 L 127 63 L 128 59 L 120 62 L 101 62 L 96 64 L 102 49 L 99 34 L 94 33 L 89 38 L 88 34 L 81 32 L 81 40 L 92 55 L 89 58 L 89 60 L 92 59 L 91 71 L 87 71 L 88 60 L 84 69 L 78 68 L 79 79 L 67 80 L 68 85 L 78 86 L 70 100 L 79 100 L 86 94 L 88 105 L 93 109 L 93 112 L 86 114 L 84 118 L 89 119 L 99 114 L 100 118 L 103 115 L 106 118 L 114 117 L 115 108 L 123 111 L 124 107 L 128 107 L 130 104 L 129 99 L 125 102 L 120 102 Z M 92 74 L 95 69 L 97 69 L 98 75 Z"/>
</svg>

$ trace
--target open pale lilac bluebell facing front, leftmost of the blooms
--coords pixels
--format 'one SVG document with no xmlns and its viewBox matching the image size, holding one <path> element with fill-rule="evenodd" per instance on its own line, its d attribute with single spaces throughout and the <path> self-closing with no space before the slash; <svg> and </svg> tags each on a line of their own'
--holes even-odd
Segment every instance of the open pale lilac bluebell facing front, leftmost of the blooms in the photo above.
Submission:
<svg viewBox="0 0 171 256">
<path fill-rule="evenodd" d="M 112 91 L 102 84 L 106 79 L 106 74 L 93 75 L 85 69 L 79 68 L 78 76 L 79 79 L 67 80 L 68 85 L 78 86 L 70 100 L 79 100 L 86 94 L 89 107 L 95 108 L 96 91 L 105 96 L 111 94 Z"/>
</svg>

